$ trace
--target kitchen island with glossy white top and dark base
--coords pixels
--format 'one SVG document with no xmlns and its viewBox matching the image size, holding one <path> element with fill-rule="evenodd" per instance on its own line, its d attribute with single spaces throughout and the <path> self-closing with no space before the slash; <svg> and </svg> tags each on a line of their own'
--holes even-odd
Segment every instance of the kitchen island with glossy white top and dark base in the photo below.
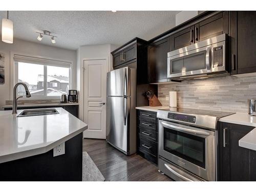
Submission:
<svg viewBox="0 0 256 192">
<path fill-rule="evenodd" d="M 81 181 L 82 132 L 87 129 L 62 108 L 58 114 L 17 117 L 0 111 L 0 181 Z M 65 154 L 53 156 L 65 143 Z M 64 145 L 63 145 L 64 146 Z"/>
</svg>

